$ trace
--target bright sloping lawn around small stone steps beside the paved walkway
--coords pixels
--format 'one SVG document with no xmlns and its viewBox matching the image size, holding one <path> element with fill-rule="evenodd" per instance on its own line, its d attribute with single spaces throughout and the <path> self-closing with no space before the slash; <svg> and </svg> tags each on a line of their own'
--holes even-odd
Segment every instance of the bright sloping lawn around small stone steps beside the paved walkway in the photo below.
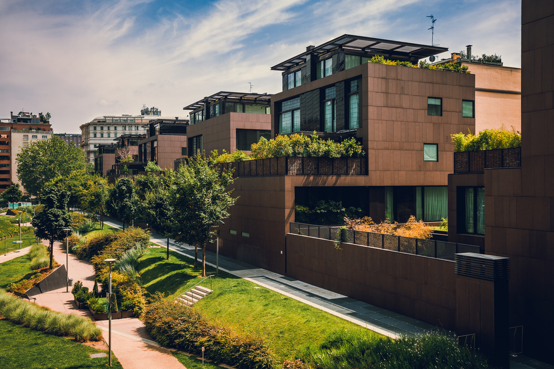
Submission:
<svg viewBox="0 0 554 369">
<path fill-rule="evenodd" d="M 150 253 L 142 257 L 139 266 L 143 287 L 148 293 L 159 291 L 166 296 L 177 296 L 202 280 L 199 277 L 201 268 L 194 269 L 192 259 L 171 251 L 170 261 L 166 261 L 165 248 L 149 250 Z M 206 273 L 215 274 L 215 269 L 206 266 Z M 201 285 L 210 288 L 209 279 Z M 228 325 L 234 331 L 263 337 L 280 361 L 293 357 L 296 349 L 306 342 L 319 344 L 331 331 L 368 331 L 222 271 L 213 278 L 212 289 L 214 292 L 211 295 L 194 306 L 208 318 Z"/>
</svg>

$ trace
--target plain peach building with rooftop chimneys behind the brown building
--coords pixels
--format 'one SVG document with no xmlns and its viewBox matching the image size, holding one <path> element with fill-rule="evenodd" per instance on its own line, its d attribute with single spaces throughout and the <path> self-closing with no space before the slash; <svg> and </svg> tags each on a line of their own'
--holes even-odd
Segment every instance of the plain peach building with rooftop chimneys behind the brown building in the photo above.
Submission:
<svg viewBox="0 0 554 369">
<path fill-rule="evenodd" d="M 521 68 L 504 66 L 500 61 L 473 59 L 471 46 L 466 46 L 466 58 L 452 53 L 434 65 L 461 63 L 475 75 L 475 102 L 465 102 L 464 116 L 475 118 L 475 131 L 514 127 L 521 131 Z M 462 133 L 467 134 L 465 129 Z"/>
</svg>

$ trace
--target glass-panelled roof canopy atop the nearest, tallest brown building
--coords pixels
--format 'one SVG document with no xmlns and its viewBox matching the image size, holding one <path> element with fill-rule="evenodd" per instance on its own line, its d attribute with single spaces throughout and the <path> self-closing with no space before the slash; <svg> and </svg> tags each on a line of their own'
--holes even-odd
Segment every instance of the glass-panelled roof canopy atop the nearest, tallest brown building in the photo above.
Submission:
<svg viewBox="0 0 554 369">
<path fill-rule="evenodd" d="M 382 55 L 385 58 L 393 60 L 407 60 L 413 62 L 448 51 L 448 48 L 440 48 L 439 46 L 411 44 L 345 34 L 325 44 L 316 46 L 311 50 L 307 50 L 300 55 L 296 55 L 294 58 L 283 61 L 283 63 L 272 66 L 271 70 L 289 70 L 306 63 L 307 56 L 310 54 L 324 56 L 337 49 L 341 49 L 345 52 L 354 51 L 357 54 L 363 53 L 367 56 Z"/>
</svg>

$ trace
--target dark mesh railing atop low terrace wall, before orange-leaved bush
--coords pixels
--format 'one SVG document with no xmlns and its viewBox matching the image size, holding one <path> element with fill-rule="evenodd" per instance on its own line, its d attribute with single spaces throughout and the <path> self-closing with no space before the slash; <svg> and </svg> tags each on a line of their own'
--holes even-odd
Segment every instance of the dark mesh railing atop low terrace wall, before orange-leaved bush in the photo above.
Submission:
<svg viewBox="0 0 554 369">
<path fill-rule="evenodd" d="M 420 238 L 384 235 L 382 233 L 346 230 L 340 227 L 317 226 L 294 222 L 290 223 L 290 233 L 452 261 L 454 261 L 456 253 L 480 253 L 481 251 L 479 246 L 465 245 L 464 243 L 422 240 Z"/>
</svg>

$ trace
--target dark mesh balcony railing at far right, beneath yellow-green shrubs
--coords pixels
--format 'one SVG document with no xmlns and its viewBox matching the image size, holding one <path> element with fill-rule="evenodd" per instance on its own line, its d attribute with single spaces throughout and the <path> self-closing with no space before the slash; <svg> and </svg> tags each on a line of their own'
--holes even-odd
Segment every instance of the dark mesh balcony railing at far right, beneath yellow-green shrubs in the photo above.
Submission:
<svg viewBox="0 0 554 369">
<path fill-rule="evenodd" d="M 489 168 L 520 168 L 521 148 L 454 153 L 454 173 L 485 173 Z"/>
</svg>

